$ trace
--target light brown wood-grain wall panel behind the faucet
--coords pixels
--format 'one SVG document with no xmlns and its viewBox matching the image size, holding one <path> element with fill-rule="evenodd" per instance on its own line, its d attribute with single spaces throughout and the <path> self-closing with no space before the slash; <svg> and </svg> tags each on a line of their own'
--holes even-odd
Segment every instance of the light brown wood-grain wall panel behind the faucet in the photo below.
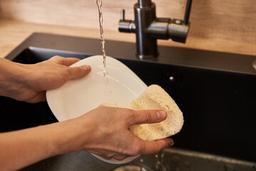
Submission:
<svg viewBox="0 0 256 171">
<path fill-rule="evenodd" d="M 158 17 L 183 19 L 185 0 L 153 1 Z M 104 29 L 117 31 L 121 9 L 126 9 L 126 19 L 133 19 L 135 3 L 136 0 L 103 0 Z M 3 19 L 98 29 L 98 11 L 94 0 L 76 0 L 75 3 L 70 0 L 0 0 L 0 7 Z M 255 19 L 255 0 L 194 0 L 189 37 L 256 45 Z M 173 44 L 172 41 L 164 43 Z M 203 44 L 200 43 L 200 46 Z"/>
</svg>

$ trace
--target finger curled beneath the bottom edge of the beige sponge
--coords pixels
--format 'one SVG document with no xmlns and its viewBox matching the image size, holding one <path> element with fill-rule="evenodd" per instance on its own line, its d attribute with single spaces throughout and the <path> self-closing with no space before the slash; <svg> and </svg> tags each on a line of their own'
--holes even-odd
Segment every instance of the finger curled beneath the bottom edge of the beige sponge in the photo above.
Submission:
<svg viewBox="0 0 256 171">
<path fill-rule="evenodd" d="M 152 155 L 164 150 L 166 147 L 174 145 L 173 139 L 164 138 L 157 141 L 144 141 L 140 146 L 139 154 Z"/>
</svg>

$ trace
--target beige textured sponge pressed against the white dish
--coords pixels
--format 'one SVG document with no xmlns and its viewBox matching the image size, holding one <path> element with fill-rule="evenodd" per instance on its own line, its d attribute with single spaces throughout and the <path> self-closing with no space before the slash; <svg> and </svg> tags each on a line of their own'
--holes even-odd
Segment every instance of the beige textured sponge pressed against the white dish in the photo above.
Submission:
<svg viewBox="0 0 256 171">
<path fill-rule="evenodd" d="M 160 123 L 131 125 L 130 130 L 134 135 L 143 140 L 159 140 L 179 133 L 183 127 L 183 113 L 176 105 L 173 98 L 158 85 L 149 86 L 144 93 L 130 104 L 118 106 L 117 104 L 104 103 L 103 106 L 130 108 L 133 110 L 160 109 L 165 110 L 167 118 Z"/>
</svg>

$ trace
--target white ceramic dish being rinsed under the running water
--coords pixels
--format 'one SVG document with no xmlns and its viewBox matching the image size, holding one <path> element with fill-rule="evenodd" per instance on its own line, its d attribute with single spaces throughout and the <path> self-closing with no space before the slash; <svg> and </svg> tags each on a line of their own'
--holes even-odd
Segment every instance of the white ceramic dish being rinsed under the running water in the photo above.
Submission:
<svg viewBox="0 0 256 171">
<path fill-rule="evenodd" d="M 91 73 L 88 76 L 67 81 L 60 88 L 46 92 L 48 105 L 58 121 L 77 118 L 97 108 L 101 103 L 126 105 L 147 88 L 145 83 L 120 61 L 107 56 L 106 63 L 108 86 L 103 76 L 103 56 L 91 56 L 71 66 L 90 65 Z M 94 156 L 105 162 L 116 164 L 129 162 L 136 158 L 128 157 L 126 160 L 118 161 Z"/>
</svg>

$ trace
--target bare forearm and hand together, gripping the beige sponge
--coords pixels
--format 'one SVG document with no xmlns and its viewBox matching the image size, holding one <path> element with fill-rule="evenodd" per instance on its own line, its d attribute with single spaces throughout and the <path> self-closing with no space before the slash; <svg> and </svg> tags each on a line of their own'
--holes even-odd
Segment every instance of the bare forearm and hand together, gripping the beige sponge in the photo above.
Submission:
<svg viewBox="0 0 256 171">
<path fill-rule="evenodd" d="M 158 153 L 173 140 L 135 137 L 130 125 L 165 120 L 162 110 L 101 107 L 79 118 L 36 128 L 0 133 L 1 170 L 18 170 L 53 155 L 85 150 L 106 159 Z"/>
</svg>

